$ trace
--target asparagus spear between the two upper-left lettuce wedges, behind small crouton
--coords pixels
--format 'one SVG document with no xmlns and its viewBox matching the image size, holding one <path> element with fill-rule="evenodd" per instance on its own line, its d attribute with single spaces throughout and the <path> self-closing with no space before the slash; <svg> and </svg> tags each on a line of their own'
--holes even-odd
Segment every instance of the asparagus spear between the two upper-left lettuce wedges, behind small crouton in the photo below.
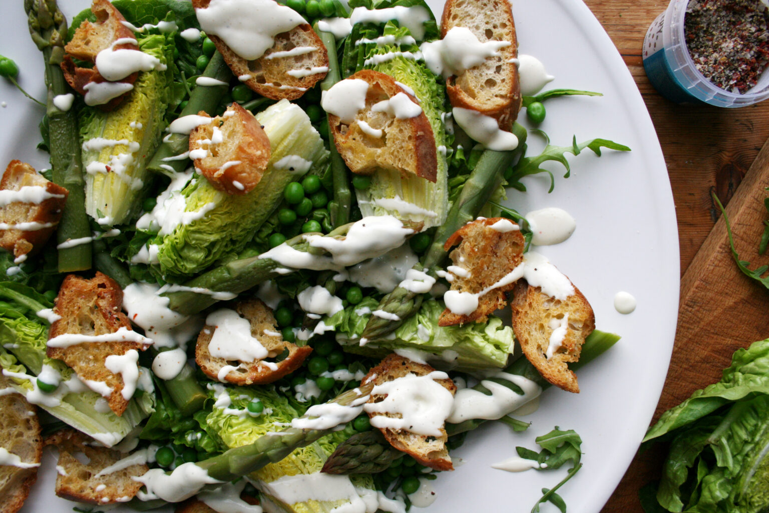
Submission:
<svg viewBox="0 0 769 513">
<path fill-rule="evenodd" d="M 221 82 L 229 82 L 230 78 L 232 78 L 232 72 L 228 68 L 225 58 L 219 52 L 214 52 L 201 76 L 215 78 L 216 80 L 221 80 Z M 209 114 L 213 113 L 228 88 L 228 85 L 196 87 L 190 93 L 187 105 L 181 109 L 179 117 L 198 114 L 201 111 L 208 112 Z M 188 146 L 189 134 L 166 135 L 161 145 L 155 151 L 155 155 L 152 156 L 147 168 L 152 172 L 169 176 L 183 172 L 188 167 L 187 159 L 175 157 L 187 152 Z"/>
</svg>

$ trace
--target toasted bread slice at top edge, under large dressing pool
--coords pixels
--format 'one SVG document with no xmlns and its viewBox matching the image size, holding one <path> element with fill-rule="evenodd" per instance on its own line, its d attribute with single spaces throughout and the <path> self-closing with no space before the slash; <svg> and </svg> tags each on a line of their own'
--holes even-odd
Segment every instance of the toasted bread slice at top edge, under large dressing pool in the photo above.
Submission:
<svg viewBox="0 0 769 513">
<path fill-rule="evenodd" d="M 210 2 L 192 0 L 192 5 L 206 8 Z M 208 34 L 208 38 L 225 58 L 233 75 L 255 92 L 273 100 L 301 98 L 328 72 L 326 47 L 308 23 L 275 35 L 272 47 L 255 60 L 242 58 L 216 35 Z"/>
</svg>

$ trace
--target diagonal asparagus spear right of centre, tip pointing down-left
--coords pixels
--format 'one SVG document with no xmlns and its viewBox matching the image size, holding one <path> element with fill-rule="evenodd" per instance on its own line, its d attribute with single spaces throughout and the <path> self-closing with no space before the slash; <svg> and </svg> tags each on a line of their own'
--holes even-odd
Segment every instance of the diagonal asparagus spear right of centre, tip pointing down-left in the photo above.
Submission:
<svg viewBox="0 0 769 513">
<path fill-rule="evenodd" d="M 521 155 L 527 136 L 526 128 L 518 123 L 514 123 L 512 132 L 518 137 L 518 148 L 510 152 L 494 152 L 493 150 L 483 152 L 478 164 L 472 170 L 470 178 L 464 182 L 459 198 L 451 205 L 446 222 L 435 232 L 433 242 L 422 258 L 419 271 L 425 270 L 432 275 L 434 268 L 440 265 L 441 261 L 448 255 L 443 245 L 449 236 L 465 223 L 472 221 L 491 198 L 491 194 L 504 181 L 505 170 L 510 168 L 515 159 Z M 395 288 L 394 291 L 379 301 L 378 310 L 397 315 L 400 320 L 394 321 L 393 318 L 384 315 L 372 315 L 361 338 L 371 341 L 389 335 L 407 318 L 411 317 L 421 304 L 421 294 L 403 287 Z"/>
</svg>

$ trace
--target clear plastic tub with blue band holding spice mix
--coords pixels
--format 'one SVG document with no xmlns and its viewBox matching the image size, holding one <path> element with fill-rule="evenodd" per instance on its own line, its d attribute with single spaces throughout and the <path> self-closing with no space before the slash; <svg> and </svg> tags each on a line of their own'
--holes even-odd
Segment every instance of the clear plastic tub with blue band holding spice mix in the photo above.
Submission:
<svg viewBox="0 0 769 513">
<path fill-rule="evenodd" d="M 649 27 L 644 38 L 644 69 L 651 85 L 676 103 L 717 107 L 745 107 L 769 98 L 769 72 L 743 95 L 728 92 L 697 71 L 684 38 L 684 16 L 689 0 L 671 0 L 665 12 Z"/>
</svg>

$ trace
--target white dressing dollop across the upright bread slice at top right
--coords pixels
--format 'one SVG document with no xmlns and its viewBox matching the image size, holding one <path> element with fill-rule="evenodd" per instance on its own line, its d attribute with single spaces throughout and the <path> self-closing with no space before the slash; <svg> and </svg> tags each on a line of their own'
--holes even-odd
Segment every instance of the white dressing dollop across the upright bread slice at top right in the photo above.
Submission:
<svg viewBox="0 0 769 513">
<path fill-rule="evenodd" d="M 500 55 L 499 50 L 510 45 L 508 41 L 480 42 L 469 28 L 454 27 L 442 39 L 424 42 L 419 49 L 428 68 L 435 75 L 448 78 Z"/>
</svg>

